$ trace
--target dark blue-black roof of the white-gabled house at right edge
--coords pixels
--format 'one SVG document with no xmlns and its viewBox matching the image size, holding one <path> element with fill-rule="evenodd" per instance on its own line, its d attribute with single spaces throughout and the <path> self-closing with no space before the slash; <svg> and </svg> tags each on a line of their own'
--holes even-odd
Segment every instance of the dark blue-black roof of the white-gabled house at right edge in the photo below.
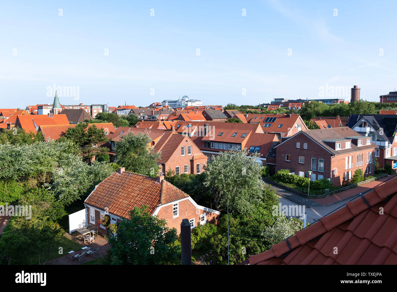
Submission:
<svg viewBox="0 0 397 292">
<path fill-rule="evenodd" d="M 390 143 L 393 143 L 395 132 L 397 131 L 397 115 L 395 114 L 351 114 L 346 126 L 353 128 L 354 125 L 362 118 L 366 118 L 369 122 L 371 117 L 376 120 L 379 127 L 383 129 L 383 133 L 387 136 Z M 370 122 L 371 123 L 371 122 Z M 371 123 L 372 124 L 372 123 Z"/>
</svg>

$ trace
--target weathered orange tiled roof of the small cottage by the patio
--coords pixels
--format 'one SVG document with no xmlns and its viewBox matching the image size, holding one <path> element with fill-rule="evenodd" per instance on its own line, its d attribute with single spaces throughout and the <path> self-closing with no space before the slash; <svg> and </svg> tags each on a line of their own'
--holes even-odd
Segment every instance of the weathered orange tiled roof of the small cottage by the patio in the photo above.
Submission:
<svg viewBox="0 0 397 292">
<path fill-rule="evenodd" d="M 189 197 L 169 182 L 134 172 L 114 172 L 105 178 L 85 199 L 87 205 L 105 210 L 119 217 L 129 218 L 134 207 L 148 205 L 153 214 L 159 205 Z"/>
</svg>

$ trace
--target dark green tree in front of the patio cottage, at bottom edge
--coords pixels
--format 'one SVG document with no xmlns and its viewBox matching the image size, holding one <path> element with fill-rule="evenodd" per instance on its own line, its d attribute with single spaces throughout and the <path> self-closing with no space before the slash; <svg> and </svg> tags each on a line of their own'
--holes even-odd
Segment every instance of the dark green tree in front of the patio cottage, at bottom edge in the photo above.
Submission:
<svg viewBox="0 0 397 292">
<path fill-rule="evenodd" d="M 113 265 L 170 265 L 179 262 L 176 229 L 166 220 L 152 216 L 148 206 L 135 207 L 123 219 L 117 236 L 110 234 L 108 260 Z"/>
</svg>

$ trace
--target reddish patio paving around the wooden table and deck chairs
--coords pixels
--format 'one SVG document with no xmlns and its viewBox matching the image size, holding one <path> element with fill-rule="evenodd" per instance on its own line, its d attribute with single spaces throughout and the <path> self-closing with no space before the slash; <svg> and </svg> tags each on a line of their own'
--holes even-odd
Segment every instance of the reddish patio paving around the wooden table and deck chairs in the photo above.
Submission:
<svg viewBox="0 0 397 292">
<path fill-rule="evenodd" d="M 105 240 L 105 238 L 103 238 L 100 235 L 95 236 L 95 240 L 92 244 L 89 244 L 88 242 L 84 243 L 82 241 L 80 235 L 76 237 L 76 236 L 72 236 L 69 233 L 65 232 L 64 236 L 66 236 L 70 240 L 73 240 L 74 242 L 79 243 L 82 248 L 85 246 L 87 246 L 91 249 L 100 247 L 100 249 L 98 250 L 100 257 L 104 257 L 107 254 L 107 251 L 110 247 L 108 242 Z M 62 257 L 57 257 L 56 259 L 52 259 L 51 261 L 48 261 L 48 265 L 81 265 L 79 263 L 78 259 L 73 259 L 73 261 L 72 261 L 69 257 L 67 257 L 69 255 L 67 253 L 68 251 L 65 251 L 65 252 L 66 252 L 66 254 L 63 255 Z M 75 250 L 75 254 L 82 253 L 82 252 L 83 252 L 83 249 Z M 91 257 L 90 255 L 87 255 L 85 258 L 87 259 L 87 262 L 94 260 L 94 257 Z M 98 259 L 99 259 L 99 257 L 98 257 Z"/>
</svg>

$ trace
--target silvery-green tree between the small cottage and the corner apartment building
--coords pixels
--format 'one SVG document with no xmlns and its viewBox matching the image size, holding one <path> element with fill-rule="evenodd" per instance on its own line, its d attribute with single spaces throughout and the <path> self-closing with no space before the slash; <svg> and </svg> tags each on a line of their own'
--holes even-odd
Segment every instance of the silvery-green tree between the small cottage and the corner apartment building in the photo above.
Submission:
<svg viewBox="0 0 397 292">
<path fill-rule="evenodd" d="M 261 179 L 263 167 L 256 162 L 259 156 L 258 153 L 248 156 L 247 149 L 227 151 L 208 163 L 204 186 L 216 193 L 216 210 L 226 209 L 228 202 L 230 212 L 252 213 L 265 189 Z"/>
</svg>

